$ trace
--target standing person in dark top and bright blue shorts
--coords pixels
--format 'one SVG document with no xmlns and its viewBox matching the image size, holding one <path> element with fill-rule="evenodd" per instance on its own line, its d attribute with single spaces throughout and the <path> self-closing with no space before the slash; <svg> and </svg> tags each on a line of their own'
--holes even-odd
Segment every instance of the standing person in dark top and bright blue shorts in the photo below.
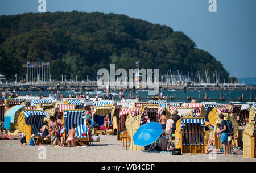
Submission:
<svg viewBox="0 0 256 173">
<path fill-rule="evenodd" d="M 221 113 L 220 114 L 220 120 L 221 120 L 221 143 L 222 143 L 222 147 L 224 150 L 224 154 L 228 154 L 228 127 L 227 127 L 227 123 L 226 120 L 224 120 L 224 115 Z"/>
</svg>

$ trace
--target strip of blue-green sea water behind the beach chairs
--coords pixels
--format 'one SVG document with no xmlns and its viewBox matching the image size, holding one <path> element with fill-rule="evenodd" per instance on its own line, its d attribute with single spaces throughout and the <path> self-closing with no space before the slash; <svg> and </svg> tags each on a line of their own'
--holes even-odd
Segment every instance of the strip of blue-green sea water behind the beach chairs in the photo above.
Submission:
<svg viewBox="0 0 256 173">
<path fill-rule="evenodd" d="M 97 94 L 99 94 L 100 97 L 104 96 L 104 94 L 106 94 L 105 91 L 88 91 L 91 97 L 96 96 Z M 114 97 L 119 97 L 118 92 L 119 91 L 110 91 L 112 93 L 112 95 Z M 230 100 L 229 99 L 236 99 L 236 100 L 231 100 L 232 103 L 235 104 L 245 104 L 246 102 L 238 102 L 238 97 L 242 96 L 242 93 L 244 94 L 244 98 L 245 99 L 250 99 L 250 93 L 253 92 L 253 100 L 255 101 L 255 97 L 256 97 L 256 91 L 222 91 L 222 96 L 225 97 L 225 101 L 220 101 L 220 100 L 215 100 L 215 99 L 219 99 L 220 98 L 220 91 L 200 91 L 200 98 L 203 99 L 205 92 L 207 92 L 208 94 L 208 101 L 214 101 L 217 103 L 229 103 Z M 10 92 L 7 92 L 7 94 L 9 94 Z M 33 96 L 36 95 L 40 95 L 43 94 L 44 96 L 49 96 L 50 91 L 43 91 L 43 92 L 38 92 L 38 91 L 31 91 L 31 92 L 16 92 L 19 96 L 23 95 L 25 96 L 27 93 L 30 95 L 32 94 Z M 86 92 L 82 92 L 82 91 L 61 91 L 61 94 L 63 94 L 65 97 L 68 97 L 69 94 L 72 94 L 74 97 L 77 94 L 84 94 L 86 95 Z M 123 95 L 125 96 L 125 98 L 129 98 L 129 91 L 127 92 L 123 92 Z M 199 98 L 199 91 L 187 91 L 186 93 L 184 93 L 183 90 L 177 90 L 177 91 L 167 91 L 167 90 L 163 90 L 162 91 L 163 96 L 167 96 L 167 98 L 169 98 L 170 96 L 174 96 L 174 98 L 184 98 L 184 99 L 176 99 L 176 100 L 171 100 L 171 102 L 187 102 L 187 100 L 185 100 L 185 98 L 187 98 L 187 96 L 191 96 L 192 98 Z M 151 97 L 154 95 L 148 95 L 148 91 L 146 90 L 142 90 L 142 91 L 136 91 L 136 93 L 133 94 L 133 96 L 135 97 L 135 95 L 139 95 L 141 96 L 141 98 L 147 98 L 148 99 L 143 99 L 144 101 L 146 100 L 151 100 Z M 118 100 L 118 99 L 116 99 Z M 198 100 L 198 102 L 202 102 L 203 100 Z M 253 101 L 253 102 L 254 102 Z"/>
</svg>

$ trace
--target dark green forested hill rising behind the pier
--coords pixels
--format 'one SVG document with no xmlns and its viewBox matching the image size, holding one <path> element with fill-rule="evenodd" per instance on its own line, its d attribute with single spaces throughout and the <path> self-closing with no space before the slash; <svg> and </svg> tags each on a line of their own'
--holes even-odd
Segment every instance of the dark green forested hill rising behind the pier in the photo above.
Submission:
<svg viewBox="0 0 256 173">
<path fill-rule="evenodd" d="M 126 15 L 100 12 L 55 12 L 0 16 L 0 73 L 24 78 L 27 61 L 51 62 L 52 79 L 96 78 L 98 69 L 159 68 L 188 71 L 218 70 L 229 78 L 220 61 L 196 47 L 183 32 Z M 198 31 L 200 32 L 200 31 Z M 212 76 L 212 75 L 210 75 Z"/>
</svg>

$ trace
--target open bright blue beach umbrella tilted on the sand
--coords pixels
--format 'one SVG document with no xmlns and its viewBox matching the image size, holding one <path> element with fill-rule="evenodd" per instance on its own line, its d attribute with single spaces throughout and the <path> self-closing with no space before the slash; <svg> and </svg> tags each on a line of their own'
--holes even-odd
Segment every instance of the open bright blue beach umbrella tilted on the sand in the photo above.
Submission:
<svg viewBox="0 0 256 173">
<path fill-rule="evenodd" d="M 147 146 L 152 144 L 163 133 L 160 123 L 150 122 L 139 127 L 133 136 L 134 145 Z"/>
</svg>

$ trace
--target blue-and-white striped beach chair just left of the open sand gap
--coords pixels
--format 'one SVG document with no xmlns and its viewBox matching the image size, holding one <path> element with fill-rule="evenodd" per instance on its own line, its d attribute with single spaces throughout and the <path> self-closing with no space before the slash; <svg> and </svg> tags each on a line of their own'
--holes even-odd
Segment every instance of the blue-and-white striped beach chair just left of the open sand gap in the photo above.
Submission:
<svg viewBox="0 0 256 173">
<path fill-rule="evenodd" d="M 69 130 L 72 129 L 72 125 L 76 124 L 76 138 L 80 145 L 89 145 L 92 141 L 90 129 L 86 126 L 86 112 L 85 110 L 64 110 L 63 111 L 65 135 L 68 134 Z M 84 136 L 83 134 L 86 134 Z"/>
</svg>

